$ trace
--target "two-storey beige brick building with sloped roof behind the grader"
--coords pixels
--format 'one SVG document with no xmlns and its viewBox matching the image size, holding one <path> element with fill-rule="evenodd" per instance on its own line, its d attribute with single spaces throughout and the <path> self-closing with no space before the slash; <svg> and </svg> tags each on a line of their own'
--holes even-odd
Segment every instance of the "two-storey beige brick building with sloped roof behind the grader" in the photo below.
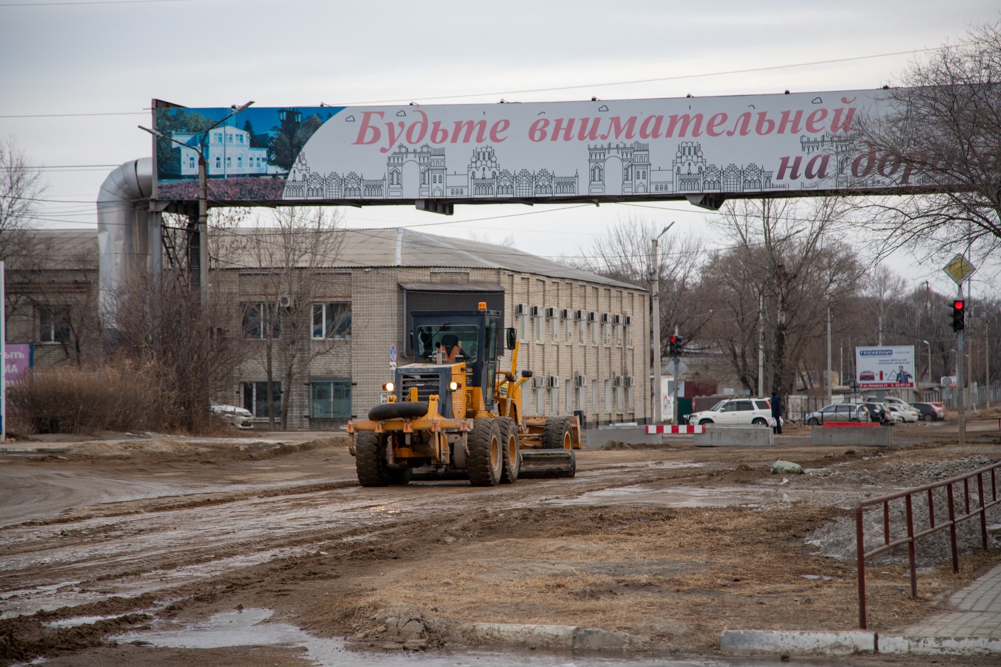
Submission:
<svg viewBox="0 0 1001 667">
<path fill-rule="evenodd" d="M 70 232 L 33 233 L 48 238 L 50 244 L 69 242 L 60 234 Z M 73 245 L 78 250 L 92 247 L 95 260 L 73 269 L 90 295 L 59 301 L 59 312 L 69 320 L 80 316 L 81 309 L 93 312 L 97 283 L 96 232 L 71 233 Z M 379 401 L 382 383 L 391 379 L 391 351 L 395 350 L 395 364 L 412 361 L 408 313 L 422 308 L 475 308 L 478 301 L 503 310 L 506 326 L 519 332 L 519 369 L 535 373 L 525 392 L 526 414 L 566 415 L 580 410 L 590 423 L 644 421 L 652 416 L 646 290 L 491 243 L 403 228 L 337 233 L 342 236 L 335 253 L 319 264 L 297 269 L 314 276 L 308 309 L 298 299 L 277 298 L 279 307 L 295 307 L 305 320 L 311 317 L 309 331 L 297 348 L 307 364 L 290 386 L 279 385 L 275 396 L 290 402 L 289 428 L 338 429 L 350 417 L 364 416 Z M 234 369 L 231 393 L 217 401 L 244 406 L 264 423 L 263 346 L 269 304 L 276 299 L 274 290 L 266 287 L 269 268 L 260 265 L 259 256 L 255 262 L 248 255 L 245 249 L 242 254 L 230 253 L 222 263 L 225 268 L 210 276 L 213 287 L 231 302 L 238 301 L 244 313 L 232 330 L 242 330 L 245 361 Z M 69 273 L 64 277 L 70 279 Z M 30 340 L 43 352 L 66 348 L 68 333 L 46 327 L 55 312 L 47 307 L 40 295 L 30 306 L 22 305 L 15 317 L 8 297 L 8 341 Z M 510 354 L 503 358 L 502 368 L 511 363 Z M 66 359 L 65 354 L 47 352 L 36 356 L 42 365 Z M 277 368 L 272 377 L 289 385 Z"/>
</svg>

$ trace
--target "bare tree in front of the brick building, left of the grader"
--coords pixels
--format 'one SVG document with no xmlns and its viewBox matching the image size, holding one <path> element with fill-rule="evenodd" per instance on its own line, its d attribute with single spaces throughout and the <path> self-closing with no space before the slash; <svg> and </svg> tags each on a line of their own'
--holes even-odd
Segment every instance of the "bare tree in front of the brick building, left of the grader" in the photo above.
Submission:
<svg viewBox="0 0 1001 667">
<path fill-rule="evenodd" d="M 343 234 L 339 209 L 279 208 L 265 226 L 257 220 L 250 228 L 234 229 L 234 243 L 242 244 L 236 264 L 255 269 L 257 302 L 247 304 L 245 325 L 258 327 L 263 339 L 263 364 L 267 377 L 268 426 L 274 424 L 275 376 L 281 378 L 285 398 L 281 401 L 280 428 L 288 428 L 291 387 L 295 379 L 320 355 L 335 351 L 342 342 L 332 333 L 343 325 L 338 317 L 349 312 L 319 312 L 319 325 L 327 330 L 313 336 L 316 324 L 313 300 L 325 281 L 324 268 L 332 266 L 340 253 Z M 223 257 L 227 256 L 223 252 Z M 221 261 L 221 260 L 220 260 Z M 233 267 L 226 260 L 225 265 Z M 277 367 L 277 368 L 276 368 Z"/>
</svg>

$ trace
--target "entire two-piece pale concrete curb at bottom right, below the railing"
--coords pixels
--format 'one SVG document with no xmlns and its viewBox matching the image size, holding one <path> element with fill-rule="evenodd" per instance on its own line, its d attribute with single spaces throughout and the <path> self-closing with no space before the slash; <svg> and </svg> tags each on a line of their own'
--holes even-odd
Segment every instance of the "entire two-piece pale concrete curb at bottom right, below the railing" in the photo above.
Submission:
<svg viewBox="0 0 1001 667">
<path fill-rule="evenodd" d="M 908 637 L 862 630 L 812 632 L 724 630 L 720 650 L 729 653 L 851 655 L 871 652 L 915 655 L 987 655 L 1001 653 L 1001 637 Z"/>
</svg>

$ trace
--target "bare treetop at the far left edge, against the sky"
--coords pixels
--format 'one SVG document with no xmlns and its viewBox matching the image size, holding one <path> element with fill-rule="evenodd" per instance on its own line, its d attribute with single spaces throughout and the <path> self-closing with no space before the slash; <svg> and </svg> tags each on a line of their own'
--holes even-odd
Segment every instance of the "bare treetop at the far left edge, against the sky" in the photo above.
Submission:
<svg viewBox="0 0 1001 667">
<path fill-rule="evenodd" d="M 14 137 L 0 139 L 0 259 L 13 249 L 16 232 L 27 226 L 44 191 L 41 172 L 31 166 Z"/>
</svg>

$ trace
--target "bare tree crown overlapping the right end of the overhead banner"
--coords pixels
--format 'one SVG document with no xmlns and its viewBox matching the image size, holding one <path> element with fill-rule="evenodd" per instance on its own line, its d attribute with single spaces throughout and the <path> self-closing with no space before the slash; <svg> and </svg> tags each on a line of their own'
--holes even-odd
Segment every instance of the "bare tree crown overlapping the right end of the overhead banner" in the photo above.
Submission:
<svg viewBox="0 0 1001 667">
<path fill-rule="evenodd" d="M 885 112 L 860 119 L 853 176 L 915 195 L 862 205 L 897 245 L 986 255 L 1001 246 L 1001 21 L 971 26 L 894 83 Z"/>
</svg>

